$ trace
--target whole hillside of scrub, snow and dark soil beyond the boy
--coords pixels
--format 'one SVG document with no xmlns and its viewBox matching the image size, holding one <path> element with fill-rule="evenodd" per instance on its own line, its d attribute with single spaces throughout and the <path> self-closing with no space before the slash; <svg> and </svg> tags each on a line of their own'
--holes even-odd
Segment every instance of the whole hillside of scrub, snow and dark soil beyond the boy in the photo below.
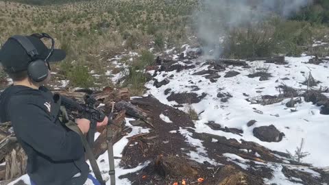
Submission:
<svg viewBox="0 0 329 185">
<path fill-rule="evenodd" d="M 329 184 L 326 1 L 17 2 L 0 1 L 0 42 L 56 38 L 51 90 L 143 112 L 114 107 L 117 184 Z"/>
</svg>

